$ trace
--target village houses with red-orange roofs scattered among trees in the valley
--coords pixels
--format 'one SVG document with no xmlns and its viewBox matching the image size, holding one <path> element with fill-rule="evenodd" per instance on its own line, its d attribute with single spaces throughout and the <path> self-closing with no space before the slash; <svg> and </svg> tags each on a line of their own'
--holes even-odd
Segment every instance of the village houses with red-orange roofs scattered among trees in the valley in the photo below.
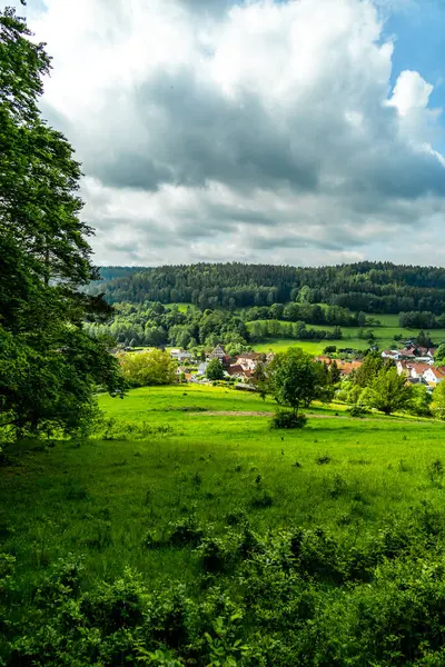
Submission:
<svg viewBox="0 0 445 667">
<path fill-rule="evenodd" d="M 134 352 L 137 351 L 142 350 Z M 405 342 L 403 349 L 384 350 L 380 355 L 384 359 L 394 361 L 398 375 L 404 375 L 407 384 L 424 385 L 433 391 L 445 379 L 445 366 L 434 366 L 435 352 L 435 348 L 419 347 L 409 340 Z M 239 389 L 253 388 L 258 366 L 269 364 L 275 357 L 273 351 L 268 354 L 246 351 L 233 357 L 226 352 L 222 345 L 217 345 L 207 355 L 202 354 L 199 359 L 180 348 L 169 349 L 169 354 L 178 362 L 178 381 L 208 384 L 210 381 L 207 377 L 208 365 L 217 359 L 222 367 L 224 378 L 227 381 L 231 380 Z M 335 349 L 334 352 L 315 356 L 314 360 L 327 366 L 335 364 L 342 377 L 347 378 L 360 368 L 364 354 L 353 349 Z"/>
</svg>

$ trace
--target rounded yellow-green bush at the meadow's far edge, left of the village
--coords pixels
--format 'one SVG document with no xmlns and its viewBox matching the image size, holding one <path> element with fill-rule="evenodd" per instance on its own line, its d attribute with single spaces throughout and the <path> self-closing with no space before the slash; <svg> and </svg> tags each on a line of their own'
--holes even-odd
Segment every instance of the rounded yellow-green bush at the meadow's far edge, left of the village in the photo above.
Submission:
<svg viewBox="0 0 445 667">
<path fill-rule="evenodd" d="M 172 385 L 176 364 L 167 351 L 122 352 L 119 355 L 122 375 L 131 387 Z"/>
</svg>

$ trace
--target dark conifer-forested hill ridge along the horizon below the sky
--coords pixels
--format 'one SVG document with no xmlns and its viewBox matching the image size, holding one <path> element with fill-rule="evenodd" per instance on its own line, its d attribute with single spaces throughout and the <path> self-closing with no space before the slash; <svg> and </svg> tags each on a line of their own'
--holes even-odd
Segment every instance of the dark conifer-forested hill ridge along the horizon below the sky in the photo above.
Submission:
<svg viewBox="0 0 445 667">
<path fill-rule="evenodd" d="M 109 302 L 187 302 L 205 308 L 270 306 L 303 299 L 365 312 L 445 312 L 445 269 L 358 262 L 297 268 L 274 265 L 197 263 L 154 268 L 102 267 Z M 301 291 L 303 290 L 303 291 Z"/>
</svg>

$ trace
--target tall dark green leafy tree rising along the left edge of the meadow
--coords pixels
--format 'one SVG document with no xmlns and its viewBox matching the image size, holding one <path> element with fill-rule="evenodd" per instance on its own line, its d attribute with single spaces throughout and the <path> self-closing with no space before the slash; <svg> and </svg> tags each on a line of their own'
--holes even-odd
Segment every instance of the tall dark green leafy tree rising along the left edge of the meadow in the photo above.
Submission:
<svg viewBox="0 0 445 667">
<path fill-rule="evenodd" d="M 42 119 L 50 71 L 44 44 L 13 9 L 0 12 L 0 429 L 19 435 L 78 428 L 97 386 L 122 391 L 119 367 L 83 321 L 103 321 L 79 218 L 81 171 L 73 149 Z"/>
</svg>

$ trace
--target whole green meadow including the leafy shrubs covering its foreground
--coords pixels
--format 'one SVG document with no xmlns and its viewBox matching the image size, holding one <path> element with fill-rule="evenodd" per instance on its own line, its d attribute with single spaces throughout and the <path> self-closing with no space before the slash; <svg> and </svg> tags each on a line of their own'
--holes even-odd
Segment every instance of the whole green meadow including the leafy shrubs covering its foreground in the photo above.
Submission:
<svg viewBox="0 0 445 667">
<path fill-rule="evenodd" d="M 209 386 L 99 402 L 95 438 L 0 467 L 0 665 L 443 665 L 443 424 L 315 405 L 276 431 Z"/>
</svg>

